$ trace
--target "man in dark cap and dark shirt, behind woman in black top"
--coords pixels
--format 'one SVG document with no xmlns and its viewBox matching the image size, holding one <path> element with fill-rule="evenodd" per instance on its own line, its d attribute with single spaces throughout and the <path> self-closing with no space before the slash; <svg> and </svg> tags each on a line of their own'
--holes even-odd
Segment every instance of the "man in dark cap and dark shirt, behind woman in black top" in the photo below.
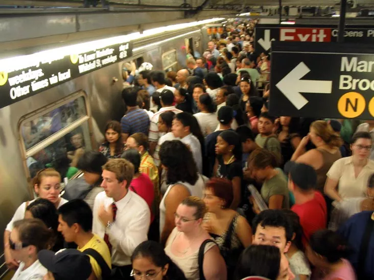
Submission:
<svg viewBox="0 0 374 280">
<path fill-rule="evenodd" d="M 217 113 L 219 121 L 219 130 L 209 134 L 205 139 L 205 156 L 208 158 L 209 174 L 208 177 L 212 176 L 213 167 L 216 162 L 216 143 L 217 136 L 224 130 L 231 129 L 231 123 L 233 120 L 233 110 L 229 106 L 222 106 Z"/>
</svg>

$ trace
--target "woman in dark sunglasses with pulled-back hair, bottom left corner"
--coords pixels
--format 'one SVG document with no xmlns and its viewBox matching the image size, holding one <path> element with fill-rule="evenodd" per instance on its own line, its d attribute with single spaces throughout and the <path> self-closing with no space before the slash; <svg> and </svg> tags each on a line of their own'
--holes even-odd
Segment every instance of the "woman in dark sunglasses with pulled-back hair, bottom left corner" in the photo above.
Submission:
<svg viewBox="0 0 374 280">
<path fill-rule="evenodd" d="M 53 231 L 39 219 L 14 222 L 13 230 L 5 247 L 12 258 L 19 261 L 19 267 L 12 280 L 43 279 L 48 270 L 38 261 L 38 251 L 48 249 L 53 244 Z"/>
</svg>

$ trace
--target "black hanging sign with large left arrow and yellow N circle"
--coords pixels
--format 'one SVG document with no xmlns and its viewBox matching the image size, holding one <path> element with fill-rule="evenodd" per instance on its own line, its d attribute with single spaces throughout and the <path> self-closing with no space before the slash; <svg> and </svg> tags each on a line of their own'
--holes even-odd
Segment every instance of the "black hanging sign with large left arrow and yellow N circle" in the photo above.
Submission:
<svg viewBox="0 0 374 280">
<path fill-rule="evenodd" d="M 272 42 L 270 114 L 374 119 L 374 48 Z"/>
</svg>

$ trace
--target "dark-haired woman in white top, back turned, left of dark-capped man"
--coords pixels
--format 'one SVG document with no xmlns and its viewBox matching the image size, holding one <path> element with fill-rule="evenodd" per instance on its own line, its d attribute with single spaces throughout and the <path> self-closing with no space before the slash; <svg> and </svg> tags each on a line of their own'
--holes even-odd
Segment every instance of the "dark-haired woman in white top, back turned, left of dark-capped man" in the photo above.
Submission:
<svg viewBox="0 0 374 280">
<path fill-rule="evenodd" d="M 201 132 L 203 133 L 204 137 L 206 137 L 212 132 L 216 131 L 218 125 L 216 114 L 217 106 L 209 94 L 203 93 L 200 95 L 197 101 L 197 107 L 199 108 L 200 112 L 194 114 L 194 116 L 199 122 Z"/>
</svg>

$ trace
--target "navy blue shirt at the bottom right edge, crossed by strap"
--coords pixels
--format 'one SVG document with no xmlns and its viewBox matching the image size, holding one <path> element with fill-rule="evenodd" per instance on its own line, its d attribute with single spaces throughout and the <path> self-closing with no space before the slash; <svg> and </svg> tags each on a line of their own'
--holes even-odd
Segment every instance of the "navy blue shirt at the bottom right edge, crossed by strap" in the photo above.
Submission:
<svg viewBox="0 0 374 280">
<path fill-rule="evenodd" d="M 361 242 L 365 233 L 366 225 L 370 219 L 372 211 L 363 211 L 350 217 L 348 221 L 342 225 L 338 234 L 344 237 L 350 246 L 355 249 L 355 252 L 351 254 L 347 259 L 358 270 L 358 259 L 359 251 L 361 248 Z M 374 279 L 374 232 L 371 233 L 371 237 L 368 244 L 366 263 L 365 263 L 365 279 Z M 361 279 L 360 279 L 361 280 Z"/>
</svg>

